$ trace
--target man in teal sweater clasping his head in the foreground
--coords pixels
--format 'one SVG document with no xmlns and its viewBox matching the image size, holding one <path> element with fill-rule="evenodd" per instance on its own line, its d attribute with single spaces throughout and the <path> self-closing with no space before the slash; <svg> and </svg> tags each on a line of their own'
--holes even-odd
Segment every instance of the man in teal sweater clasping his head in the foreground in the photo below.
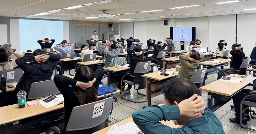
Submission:
<svg viewBox="0 0 256 134">
<path fill-rule="evenodd" d="M 198 88 L 188 79 L 172 78 L 161 87 L 164 106 L 149 106 L 132 114 L 134 123 L 145 134 L 225 134 L 216 115 L 204 106 Z M 205 108 L 205 109 L 204 109 Z M 159 121 L 177 120 L 183 125 L 172 129 Z"/>
</svg>

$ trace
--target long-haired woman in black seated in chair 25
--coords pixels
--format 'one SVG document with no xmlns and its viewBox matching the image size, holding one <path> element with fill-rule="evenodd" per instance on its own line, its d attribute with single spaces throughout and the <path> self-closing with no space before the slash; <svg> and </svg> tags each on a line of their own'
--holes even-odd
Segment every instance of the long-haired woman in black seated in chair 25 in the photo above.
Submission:
<svg viewBox="0 0 256 134">
<path fill-rule="evenodd" d="M 94 73 L 90 67 L 82 66 L 77 69 L 73 79 L 63 75 L 54 76 L 54 83 L 65 101 L 65 124 L 57 125 L 63 134 L 66 133 L 68 120 L 74 107 L 98 100 L 97 91 L 104 73 L 102 67 L 96 69 Z"/>
</svg>

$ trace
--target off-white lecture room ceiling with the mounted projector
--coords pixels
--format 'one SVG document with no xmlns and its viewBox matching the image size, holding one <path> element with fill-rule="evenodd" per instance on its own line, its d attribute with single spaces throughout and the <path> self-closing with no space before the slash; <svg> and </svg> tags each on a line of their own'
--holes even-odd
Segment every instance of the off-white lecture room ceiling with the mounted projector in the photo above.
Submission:
<svg viewBox="0 0 256 134">
<path fill-rule="evenodd" d="M 216 4 L 232 0 L 110 0 L 103 4 L 91 4 L 102 0 L 1 0 L 0 16 L 40 18 L 40 19 L 64 19 L 106 22 L 130 22 L 143 20 L 156 20 L 166 18 L 189 18 L 214 15 L 228 15 L 241 13 L 255 13 L 256 0 L 239 0 L 239 2 Z M 78 6 L 75 9 L 68 7 Z M 81 6 L 84 5 L 84 6 Z M 175 7 L 191 6 L 178 8 Z M 45 15 L 49 11 L 61 11 Z M 115 15 L 113 18 L 93 18 L 102 13 L 102 10 Z M 153 10 L 153 11 L 152 11 Z M 157 10 L 157 11 L 154 11 Z M 151 11 L 151 12 L 143 12 Z M 118 20 L 130 19 L 130 20 Z"/>
</svg>

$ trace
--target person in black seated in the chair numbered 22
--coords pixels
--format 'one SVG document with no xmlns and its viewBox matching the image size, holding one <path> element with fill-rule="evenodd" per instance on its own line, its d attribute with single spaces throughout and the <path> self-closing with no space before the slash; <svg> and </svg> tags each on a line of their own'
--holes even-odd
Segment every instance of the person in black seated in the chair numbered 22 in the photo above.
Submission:
<svg viewBox="0 0 256 134">
<path fill-rule="evenodd" d="M 129 48 L 127 48 L 126 50 L 127 50 L 128 56 L 130 58 L 130 69 L 131 69 L 131 74 L 133 75 L 137 63 L 143 62 L 143 60 L 144 60 L 143 52 L 142 52 L 142 49 L 138 46 L 133 48 L 133 50 L 131 50 Z M 124 80 L 133 81 L 133 78 L 130 77 L 130 76 L 126 76 L 124 78 Z M 122 81 L 120 80 L 120 82 L 117 86 L 119 89 L 121 89 L 121 82 Z M 125 85 L 125 83 L 123 82 L 122 86 L 124 86 L 124 85 Z M 129 84 L 128 84 L 128 87 L 127 87 L 126 90 L 124 90 L 124 87 L 123 87 L 122 88 L 122 95 L 125 95 L 126 93 L 130 94 L 131 89 L 132 89 L 132 85 L 129 85 Z"/>
</svg>

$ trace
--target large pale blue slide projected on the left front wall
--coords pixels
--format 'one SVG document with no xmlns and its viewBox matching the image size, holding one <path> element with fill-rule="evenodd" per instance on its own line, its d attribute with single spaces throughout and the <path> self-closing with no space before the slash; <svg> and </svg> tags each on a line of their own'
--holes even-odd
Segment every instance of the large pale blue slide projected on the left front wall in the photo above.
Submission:
<svg viewBox="0 0 256 134">
<path fill-rule="evenodd" d="M 41 49 L 37 40 L 44 38 L 55 40 L 52 48 L 60 43 L 63 40 L 63 22 L 20 19 L 20 53 Z"/>
</svg>

